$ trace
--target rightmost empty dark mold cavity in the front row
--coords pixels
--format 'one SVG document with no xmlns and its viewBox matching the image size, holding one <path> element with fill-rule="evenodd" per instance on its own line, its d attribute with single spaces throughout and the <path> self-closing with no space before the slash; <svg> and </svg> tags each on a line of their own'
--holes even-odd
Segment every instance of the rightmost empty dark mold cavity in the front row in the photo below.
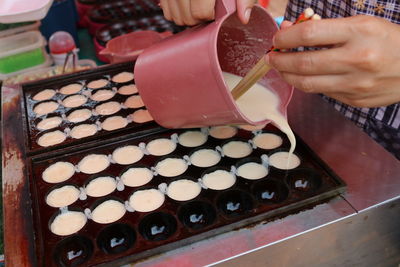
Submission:
<svg viewBox="0 0 400 267">
<path fill-rule="evenodd" d="M 312 169 L 290 171 L 286 180 L 292 190 L 304 193 L 314 193 L 322 185 L 321 175 Z"/>
</svg>

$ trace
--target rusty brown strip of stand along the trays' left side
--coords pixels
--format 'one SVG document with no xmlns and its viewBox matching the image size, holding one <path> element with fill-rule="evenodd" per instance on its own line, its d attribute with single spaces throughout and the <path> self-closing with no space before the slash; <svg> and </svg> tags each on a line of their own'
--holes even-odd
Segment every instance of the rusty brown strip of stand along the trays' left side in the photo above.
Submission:
<svg viewBox="0 0 400 267">
<path fill-rule="evenodd" d="M 2 89 L 3 221 L 7 266 L 33 266 L 33 226 L 18 90 Z"/>
</svg>

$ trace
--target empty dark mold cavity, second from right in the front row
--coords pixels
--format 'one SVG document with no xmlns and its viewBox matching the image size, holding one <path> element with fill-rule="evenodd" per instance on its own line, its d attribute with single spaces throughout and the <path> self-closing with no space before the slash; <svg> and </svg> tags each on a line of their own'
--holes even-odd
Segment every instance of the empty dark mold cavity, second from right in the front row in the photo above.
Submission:
<svg viewBox="0 0 400 267">
<path fill-rule="evenodd" d="M 288 198 L 289 189 L 280 181 L 267 179 L 256 182 L 252 186 L 252 193 L 260 202 L 280 203 Z"/>
</svg>

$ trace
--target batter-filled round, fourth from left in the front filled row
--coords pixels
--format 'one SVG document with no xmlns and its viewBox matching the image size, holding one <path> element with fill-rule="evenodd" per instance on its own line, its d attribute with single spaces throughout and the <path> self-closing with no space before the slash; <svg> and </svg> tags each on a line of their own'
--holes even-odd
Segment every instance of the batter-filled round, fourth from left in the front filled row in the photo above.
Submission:
<svg viewBox="0 0 400 267">
<path fill-rule="evenodd" d="M 167 187 L 167 195 L 177 201 L 187 201 L 197 197 L 201 186 L 188 179 L 173 181 Z"/>
</svg>

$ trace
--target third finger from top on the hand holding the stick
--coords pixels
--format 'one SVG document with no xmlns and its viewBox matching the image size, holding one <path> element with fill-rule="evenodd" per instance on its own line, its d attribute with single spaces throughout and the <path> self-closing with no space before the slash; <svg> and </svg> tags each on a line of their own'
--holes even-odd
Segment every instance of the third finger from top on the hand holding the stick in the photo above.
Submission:
<svg viewBox="0 0 400 267">
<path fill-rule="evenodd" d="M 298 75 L 281 72 L 282 78 L 306 93 L 341 93 L 343 75 Z"/>
</svg>

